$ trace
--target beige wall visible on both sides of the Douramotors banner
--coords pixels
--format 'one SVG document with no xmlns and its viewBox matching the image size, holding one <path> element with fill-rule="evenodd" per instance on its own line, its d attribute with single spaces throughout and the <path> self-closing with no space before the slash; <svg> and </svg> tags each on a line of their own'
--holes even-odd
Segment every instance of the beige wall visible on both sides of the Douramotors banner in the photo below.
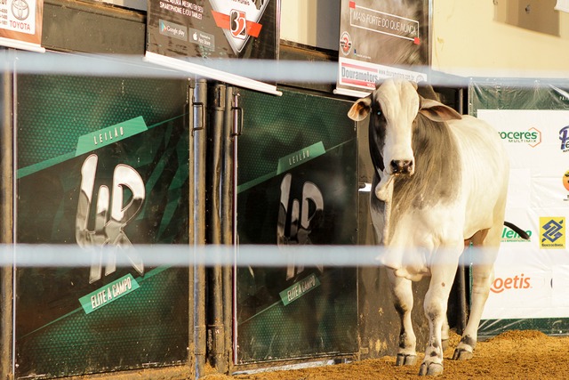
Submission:
<svg viewBox="0 0 569 380">
<path fill-rule="evenodd" d="M 432 1 L 433 69 L 465 77 L 569 77 L 569 13 L 559 12 L 560 36 L 550 36 L 494 21 L 493 0 Z M 339 10 L 340 0 L 282 0 L 281 38 L 337 50 Z"/>
</svg>

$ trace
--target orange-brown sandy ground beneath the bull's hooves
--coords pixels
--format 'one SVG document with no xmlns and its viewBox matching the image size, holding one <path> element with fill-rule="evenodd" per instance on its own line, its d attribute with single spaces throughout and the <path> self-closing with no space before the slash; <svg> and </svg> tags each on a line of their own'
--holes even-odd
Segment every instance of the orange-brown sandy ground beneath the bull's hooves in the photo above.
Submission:
<svg viewBox="0 0 569 380">
<path fill-rule="evenodd" d="M 459 336 L 451 336 L 445 351 L 445 372 L 437 379 L 565 379 L 569 378 L 569 336 L 546 336 L 538 331 L 509 331 L 478 342 L 472 360 L 451 360 Z M 333 366 L 263 372 L 251 375 L 208 375 L 206 380 L 367 380 L 418 379 L 417 364 L 396 367 L 394 357 Z"/>
</svg>

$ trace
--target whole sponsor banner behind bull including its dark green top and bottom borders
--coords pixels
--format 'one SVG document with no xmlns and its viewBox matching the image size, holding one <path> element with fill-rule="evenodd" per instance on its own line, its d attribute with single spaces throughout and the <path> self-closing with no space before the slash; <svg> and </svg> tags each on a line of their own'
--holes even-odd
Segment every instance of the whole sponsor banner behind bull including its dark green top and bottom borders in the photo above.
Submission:
<svg viewBox="0 0 569 380">
<path fill-rule="evenodd" d="M 483 335 L 503 328 L 569 331 L 569 98 L 558 85 L 529 85 L 498 80 L 470 92 L 477 117 L 498 130 L 509 151 L 506 220 L 531 237 L 503 227 Z"/>
</svg>

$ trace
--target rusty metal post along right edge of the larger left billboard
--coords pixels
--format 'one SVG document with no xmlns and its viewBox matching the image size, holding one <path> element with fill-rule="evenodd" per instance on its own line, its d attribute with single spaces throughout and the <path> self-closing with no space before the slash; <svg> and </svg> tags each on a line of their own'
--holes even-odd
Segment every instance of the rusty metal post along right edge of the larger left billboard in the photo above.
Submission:
<svg viewBox="0 0 569 380">
<path fill-rule="evenodd" d="M 193 178 L 194 182 L 194 249 L 205 245 L 205 160 L 206 160 L 206 109 L 207 82 L 196 80 L 192 125 L 193 135 Z M 205 339 L 205 269 L 203 263 L 194 264 L 194 342 L 196 356 L 196 377 L 204 375 L 206 339 Z"/>
</svg>

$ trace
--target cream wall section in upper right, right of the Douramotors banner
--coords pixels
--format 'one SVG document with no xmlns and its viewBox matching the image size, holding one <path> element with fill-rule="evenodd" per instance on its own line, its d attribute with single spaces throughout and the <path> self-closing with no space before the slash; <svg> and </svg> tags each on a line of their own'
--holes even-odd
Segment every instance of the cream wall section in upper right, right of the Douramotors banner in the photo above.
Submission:
<svg viewBox="0 0 569 380">
<path fill-rule="evenodd" d="M 494 21 L 492 0 L 433 0 L 433 8 L 433 69 L 462 76 L 569 77 L 569 13 L 559 12 L 560 36 L 550 36 Z"/>
</svg>

